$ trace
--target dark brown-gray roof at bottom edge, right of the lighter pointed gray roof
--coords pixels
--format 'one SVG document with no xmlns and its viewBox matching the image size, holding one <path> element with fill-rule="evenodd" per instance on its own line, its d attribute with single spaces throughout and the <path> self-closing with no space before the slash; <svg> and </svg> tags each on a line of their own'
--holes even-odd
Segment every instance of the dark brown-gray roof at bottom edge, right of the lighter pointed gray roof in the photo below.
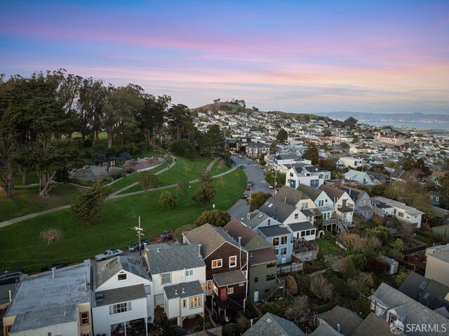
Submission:
<svg viewBox="0 0 449 336">
<path fill-rule="evenodd" d="M 363 318 L 354 311 L 340 306 L 335 306 L 330 311 L 318 314 L 316 317 L 326 321 L 335 330 L 337 330 L 337 324 L 340 324 L 340 332 L 344 335 L 351 335 L 363 322 Z"/>
</svg>

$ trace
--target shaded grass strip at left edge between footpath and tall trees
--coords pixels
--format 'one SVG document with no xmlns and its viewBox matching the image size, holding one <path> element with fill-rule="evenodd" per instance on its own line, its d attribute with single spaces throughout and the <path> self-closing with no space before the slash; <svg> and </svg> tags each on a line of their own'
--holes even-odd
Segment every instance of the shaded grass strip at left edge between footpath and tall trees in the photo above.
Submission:
<svg viewBox="0 0 449 336">
<path fill-rule="evenodd" d="M 51 189 L 49 199 L 37 197 L 39 187 L 16 189 L 12 199 L 6 199 L 4 191 L 0 191 L 0 222 L 37 211 L 65 206 L 72 203 L 79 195 L 80 190 L 70 184 L 58 184 L 57 187 Z"/>
</svg>

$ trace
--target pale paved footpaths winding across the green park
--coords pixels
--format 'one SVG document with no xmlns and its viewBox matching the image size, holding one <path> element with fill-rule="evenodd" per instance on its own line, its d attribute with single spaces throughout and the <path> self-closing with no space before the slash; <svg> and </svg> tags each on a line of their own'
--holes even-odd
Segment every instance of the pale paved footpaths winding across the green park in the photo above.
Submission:
<svg viewBox="0 0 449 336">
<path fill-rule="evenodd" d="M 209 165 L 207 166 L 206 169 L 210 170 L 210 168 L 212 168 L 212 166 L 214 165 L 215 162 L 217 162 L 217 159 L 214 159 L 211 163 L 209 163 Z M 172 165 L 174 163 L 175 163 L 175 160 L 173 159 Z M 172 167 L 172 165 L 170 165 L 170 168 Z M 231 173 L 232 171 L 236 170 L 237 167 L 238 166 L 235 166 L 234 168 L 231 168 L 231 169 L 225 171 L 225 173 L 221 173 L 221 174 L 215 175 L 215 176 L 213 176 L 213 178 L 217 178 L 217 177 L 220 177 L 220 176 L 223 176 L 223 175 L 227 175 L 227 174 Z M 166 171 L 168 169 L 169 168 L 164 168 L 163 170 L 160 170 L 159 173 L 162 173 L 163 171 Z M 189 183 L 194 183 L 194 182 L 199 182 L 199 179 L 195 179 L 195 180 L 189 181 Z M 138 184 L 138 183 L 136 182 L 134 184 L 130 184 L 130 186 L 128 186 L 128 187 L 132 187 L 135 184 Z M 170 185 L 166 185 L 166 186 L 159 187 L 159 188 L 148 189 L 147 191 L 170 189 L 170 188 L 176 187 L 176 185 L 177 184 L 170 184 Z M 121 189 L 121 191 L 128 189 L 128 187 Z M 111 199 L 120 199 L 122 197 L 133 196 L 133 195 L 138 195 L 138 194 L 143 194 L 143 193 L 145 193 L 145 191 L 143 191 L 143 190 L 142 191 L 130 192 L 128 194 L 120 194 L 120 195 L 114 193 L 114 194 L 110 194 L 109 196 L 107 196 L 106 201 L 109 201 Z M 58 208 L 51 208 L 51 209 L 48 209 L 48 210 L 39 211 L 38 213 L 30 213 L 28 215 L 23 215 L 23 216 L 20 216 L 20 217 L 12 218 L 11 220 L 6 220 L 4 222 L 0 222 L 0 227 L 7 227 L 8 225 L 11 225 L 11 224 L 14 224 L 14 223 L 17 223 L 17 222 L 22 222 L 23 220 L 29 220 L 30 218 L 38 217 L 40 215 L 45 215 L 46 213 L 54 213 L 55 211 L 69 209 L 70 207 L 71 206 L 59 206 Z"/>
</svg>

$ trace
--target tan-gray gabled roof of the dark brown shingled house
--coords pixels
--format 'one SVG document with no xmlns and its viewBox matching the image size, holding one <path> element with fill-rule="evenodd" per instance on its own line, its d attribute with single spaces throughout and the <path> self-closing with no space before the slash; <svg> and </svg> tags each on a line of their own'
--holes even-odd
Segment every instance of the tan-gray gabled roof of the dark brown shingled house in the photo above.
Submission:
<svg viewBox="0 0 449 336">
<path fill-rule="evenodd" d="M 214 227 L 208 223 L 185 232 L 184 236 L 191 244 L 201 244 L 201 255 L 204 258 L 222 246 L 223 243 L 230 243 L 239 248 L 239 243 L 234 241 L 232 236 L 229 236 L 222 227 Z"/>
</svg>

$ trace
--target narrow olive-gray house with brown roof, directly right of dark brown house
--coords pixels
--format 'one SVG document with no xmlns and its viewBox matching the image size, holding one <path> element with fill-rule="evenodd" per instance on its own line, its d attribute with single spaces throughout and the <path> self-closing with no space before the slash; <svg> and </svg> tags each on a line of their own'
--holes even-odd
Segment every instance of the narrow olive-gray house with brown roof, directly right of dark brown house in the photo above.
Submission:
<svg viewBox="0 0 449 336">
<path fill-rule="evenodd" d="M 248 295 L 257 302 L 276 285 L 276 263 L 274 247 L 262 236 L 245 224 L 232 218 L 223 227 L 234 240 L 241 241 L 241 246 L 248 251 Z"/>
</svg>

